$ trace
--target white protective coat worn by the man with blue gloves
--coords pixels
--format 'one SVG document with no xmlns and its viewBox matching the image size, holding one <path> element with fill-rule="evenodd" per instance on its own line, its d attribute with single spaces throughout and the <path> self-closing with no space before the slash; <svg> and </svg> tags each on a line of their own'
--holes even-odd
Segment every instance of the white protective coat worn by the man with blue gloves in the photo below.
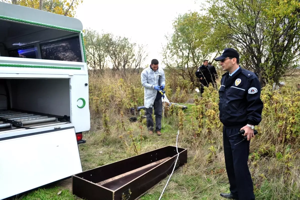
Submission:
<svg viewBox="0 0 300 200">
<path fill-rule="evenodd" d="M 154 72 L 149 66 L 143 70 L 141 82 L 144 87 L 144 106 L 146 108 L 152 107 L 157 94 L 154 86 L 166 85 L 165 72 L 160 67 Z"/>
</svg>

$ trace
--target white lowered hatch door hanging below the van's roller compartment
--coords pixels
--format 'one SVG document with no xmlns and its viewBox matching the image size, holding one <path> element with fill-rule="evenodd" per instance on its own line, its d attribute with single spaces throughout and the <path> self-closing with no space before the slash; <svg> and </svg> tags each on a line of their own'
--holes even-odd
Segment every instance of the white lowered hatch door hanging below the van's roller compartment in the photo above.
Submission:
<svg viewBox="0 0 300 200">
<path fill-rule="evenodd" d="M 79 172 L 73 127 L 0 138 L 0 199 Z"/>
</svg>

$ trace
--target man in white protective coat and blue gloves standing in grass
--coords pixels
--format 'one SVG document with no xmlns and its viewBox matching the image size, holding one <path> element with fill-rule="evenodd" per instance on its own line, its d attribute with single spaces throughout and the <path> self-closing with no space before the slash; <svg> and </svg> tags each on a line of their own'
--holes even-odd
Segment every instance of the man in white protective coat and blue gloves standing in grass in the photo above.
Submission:
<svg viewBox="0 0 300 200">
<path fill-rule="evenodd" d="M 144 106 L 146 108 L 147 128 L 149 134 L 153 134 L 152 110 L 154 108 L 156 133 L 161 135 L 162 118 L 162 95 L 159 90 L 163 90 L 166 84 L 165 72 L 158 68 L 158 60 L 153 59 L 151 65 L 143 70 L 141 82 L 144 87 Z"/>
</svg>

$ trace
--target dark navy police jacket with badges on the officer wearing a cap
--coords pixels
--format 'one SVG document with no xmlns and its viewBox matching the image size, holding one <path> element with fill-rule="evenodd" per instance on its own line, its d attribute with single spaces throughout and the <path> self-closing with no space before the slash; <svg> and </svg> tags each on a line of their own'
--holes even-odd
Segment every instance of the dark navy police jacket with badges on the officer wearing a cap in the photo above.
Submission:
<svg viewBox="0 0 300 200">
<path fill-rule="evenodd" d="M 241 128 L 246 124 L 259 125 L 263 103 L 260 83 L 248 70 L 238 69 L 231 77 L 222 75 L 219 89 L 220 121 L 228 128 Z"/>
</svg>

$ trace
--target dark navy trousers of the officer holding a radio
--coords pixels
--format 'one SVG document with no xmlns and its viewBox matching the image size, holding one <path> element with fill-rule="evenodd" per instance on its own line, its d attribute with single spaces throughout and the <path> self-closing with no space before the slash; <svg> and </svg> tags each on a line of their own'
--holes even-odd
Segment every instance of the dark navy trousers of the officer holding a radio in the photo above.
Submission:
<svg viewBox="0 0 300 200">
<path fill-rule="evenodd" d="M 240 142 L 243 137 L 237 134 L 240 128 L 223 127 L 223 146 L 230 192 L 239 200 L 254 200 L 253 182 L 248 168 L 250 140 Z"/>
</svg>

